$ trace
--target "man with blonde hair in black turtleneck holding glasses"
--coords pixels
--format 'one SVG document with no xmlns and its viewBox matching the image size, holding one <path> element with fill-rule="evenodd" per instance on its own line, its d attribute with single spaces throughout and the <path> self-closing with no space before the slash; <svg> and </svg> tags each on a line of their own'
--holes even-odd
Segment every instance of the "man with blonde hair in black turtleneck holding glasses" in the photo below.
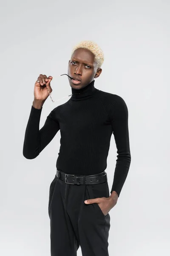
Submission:
<svg viewBox="0 0 170 256">
<path fill-rule="evenodd" d="M 24 157 L 37 157 L 57 131 L 61 133 L 48 204 L 51 256 L 76 256 L 79 246 L 82 256 L 108 256 L 108 212 L 117 203 L 131 156 L 125 101 L 94 87 L 103 60 L 102 50 L 92 41 L 74 47 L 68 62 L 72 96 L 51 111 L 40 131 L 42 105 L 49 96 L 45 82 L 51 92 L 52 76 L 40 74 L 35 83 Z M 105 169 L 112 134 L 118 155 L 110 195 Z"/>
</svg>

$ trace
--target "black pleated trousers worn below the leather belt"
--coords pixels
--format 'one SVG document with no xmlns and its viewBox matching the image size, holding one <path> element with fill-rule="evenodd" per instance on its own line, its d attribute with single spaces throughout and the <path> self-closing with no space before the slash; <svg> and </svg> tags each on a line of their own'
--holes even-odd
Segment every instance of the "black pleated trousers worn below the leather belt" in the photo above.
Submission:
<svg viewBox="0 0 170 256">
<path fill-rule="evenodd" d="M 83 176 L 83 175 L 82 175 Z M 67 184 L 56 175 L 49 191 L 51 256 L 108 256 L 110 215 L 86 199 L 109 197 L 108 181 L 95 185 Z"/>
</svg>

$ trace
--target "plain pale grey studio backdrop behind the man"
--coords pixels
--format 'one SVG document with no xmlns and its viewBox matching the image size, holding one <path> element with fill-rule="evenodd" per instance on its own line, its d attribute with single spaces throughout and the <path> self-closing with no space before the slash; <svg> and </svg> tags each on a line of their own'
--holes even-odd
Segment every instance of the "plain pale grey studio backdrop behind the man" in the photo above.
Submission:
<svg viewBox="0 0 170 256">
<path fill-rule="evenodd" d="M 94 86 L 121 96 L 129 111 L 131 165 L 110 211 L 110 256 L 170 255 L 170 2 L 158 0 L 0 2 L 0 255 L 50 256 L 49 186 L 60 132 L 33 159 L 23 140 L 40 73 L 52 98 L 71 94 L 72 47 L 93 40 L 105 61 Z M 52 109 L 43 105 L 40 128 Z M 111 137 L 109 188 L 116 165 Z M 78 256 L 82 255 L 79 248 Z"/>
</svg>

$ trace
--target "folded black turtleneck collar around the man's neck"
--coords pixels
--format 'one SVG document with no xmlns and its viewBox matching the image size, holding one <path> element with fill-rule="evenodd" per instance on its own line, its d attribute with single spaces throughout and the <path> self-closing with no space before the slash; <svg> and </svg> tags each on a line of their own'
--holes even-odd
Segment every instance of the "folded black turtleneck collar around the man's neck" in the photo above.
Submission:
<svg viewBox="0 0 170 256">
<path fill-rule="evenodd" d="M 85 87 L 79 89 L 79 90 L 76 90 L 74 88 L 71 87 L 71 91 L 72 91 L 72 96 L 71 96 L 71 100 L 82 100 L 82 99 L 88 99 L 88 98 L 91 98 L 93 96 L 93 94 L 96 92 L 96 89 L 94 87 L 94 80 L 86 85 Z M 76 94 L 74 94 L 76 93 Z"/>
</svg>

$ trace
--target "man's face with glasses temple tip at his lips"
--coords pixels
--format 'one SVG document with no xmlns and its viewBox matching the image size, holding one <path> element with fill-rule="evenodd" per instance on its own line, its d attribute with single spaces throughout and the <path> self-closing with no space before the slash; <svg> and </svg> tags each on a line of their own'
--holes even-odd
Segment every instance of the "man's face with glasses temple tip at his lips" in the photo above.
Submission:
<svg viewBox="0 0 170 256">
<path fill-rule="evenodd" d="M 102 69 L 97 69 L 96 62 L 94 62 L 94 54 L 88 49 L 76 49 L 68 61 L 68 76 L 75 76 L 81 80 L 81 83 L 74 84 L 72 79 L 68 77 L 70 86 L 74 89 L 87 86 L 101 73 Z"/>
</svg>

